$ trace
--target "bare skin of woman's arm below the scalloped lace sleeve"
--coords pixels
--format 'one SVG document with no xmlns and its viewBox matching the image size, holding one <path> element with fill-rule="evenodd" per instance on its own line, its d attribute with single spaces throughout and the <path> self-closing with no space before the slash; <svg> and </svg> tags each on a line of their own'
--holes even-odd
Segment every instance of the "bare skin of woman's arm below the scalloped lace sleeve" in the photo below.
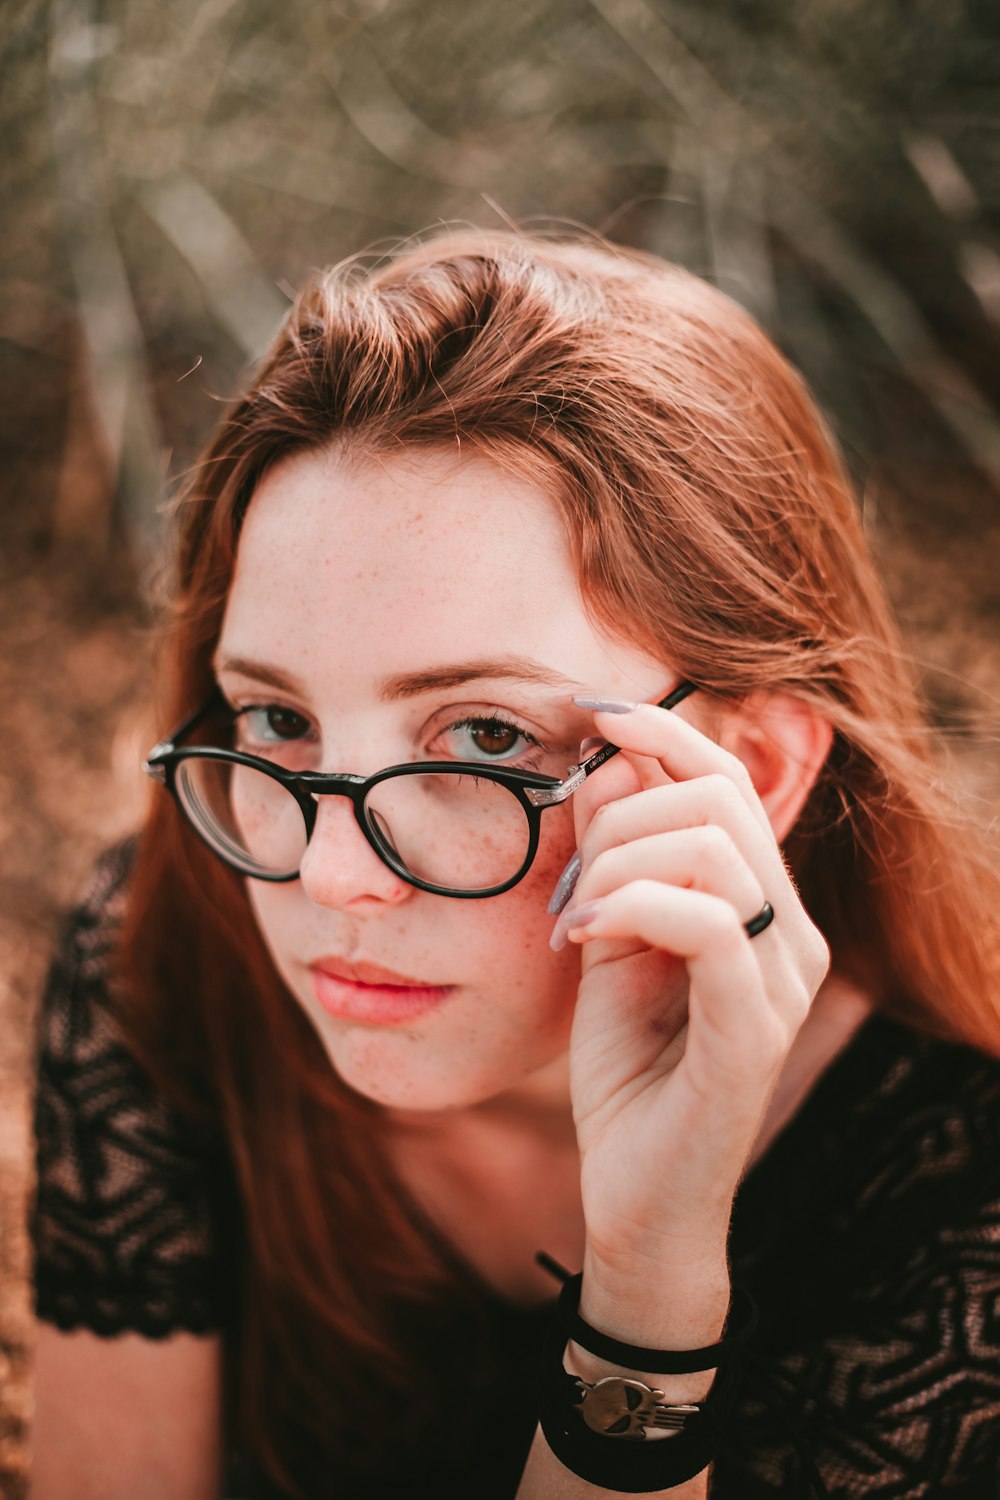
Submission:
<svg viewBox="0 0 1000 1500">
<path fill-rule="evenodd" d="M 219 1500 L 217 1335 L 37 1329 L 31 1500 Z"/>
</svg>

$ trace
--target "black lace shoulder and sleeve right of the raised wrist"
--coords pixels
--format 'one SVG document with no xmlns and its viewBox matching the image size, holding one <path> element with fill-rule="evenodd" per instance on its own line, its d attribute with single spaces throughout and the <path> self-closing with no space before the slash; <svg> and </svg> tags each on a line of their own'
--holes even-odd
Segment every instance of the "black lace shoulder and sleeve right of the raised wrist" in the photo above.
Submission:
<svg viewBox="0 0 1000 1500">
<path fill-rule="evenodd" d="M 802 1462 L 831 1494 L 993 1492 L 1000 1062 L 876 1016 L 745 1188 L 739 1494 L 808 1492 Z"/>
</svg>

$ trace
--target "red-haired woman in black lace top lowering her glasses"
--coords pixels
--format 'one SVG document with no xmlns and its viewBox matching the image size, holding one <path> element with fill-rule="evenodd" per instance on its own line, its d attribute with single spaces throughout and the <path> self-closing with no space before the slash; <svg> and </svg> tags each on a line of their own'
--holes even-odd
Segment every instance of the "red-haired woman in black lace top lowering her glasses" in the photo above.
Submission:
<svg viewBox="0 0 1000 1500">
<path fill-rule="evenodd" d="M 760 330 L 319 276 L 165 658 L 43 1016 L 37 1500 L 993 1494 L 997 878 Z"/>
</svg>

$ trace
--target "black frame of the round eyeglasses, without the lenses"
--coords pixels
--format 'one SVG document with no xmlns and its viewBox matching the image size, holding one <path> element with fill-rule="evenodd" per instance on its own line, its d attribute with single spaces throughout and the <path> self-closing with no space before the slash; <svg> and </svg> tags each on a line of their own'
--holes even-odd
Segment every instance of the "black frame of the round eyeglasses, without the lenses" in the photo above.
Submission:
<svg viewBox="0 0 1000 1500">
<path fill-rule="evenodd" d="M 694 692 L 694 682 L 679 682 L 678 687 L 667 693 L 666 698 L 660 699 L 657 708 L 676 708 L 678 704 L 682 704 L 685 698 L 690 698 Z M 586 760 L 582 760 L 579 765 L 571 765 L 562 780 L 559 780 L 559 777 L 544 776 L 541 771 L 520 771 L 516 766 L 489 765 L 480 764 L 478 760 L 411 760 L 403 765 L 388 765 L 381 771 L 375 771 L 373 776 L 355 776 L 348 771 L 285 771 L 282 766 L 265 760 L 262 756 L 247 754 L 244 750 L 226 750 L 216 746 L 178 744 L 184 735 L 196 729 L 198 724 L 208 718 L 210 714 L 216 712 L 219 706 L 228 708 L 225 699 L 216 690 L 211 698 L 208 698 L 208 700 L 204 702 L 196 712 L 184 718 L 183 723 L 180 723 L 177 729 L 166 736 L 166 740 L 160 740 L 153 746 L 142 762 L 142 770 L 154 782 L 159 782 L 166 788 L 177 802 L 187 825 L 195 834 L 198 834 L 202 843 L 211 849 L 217 860 L 222 860 L 222 862 L 231 870 L 235 870 L 238 874 L 243 874 L 250 880 L 265 880 L 270 885 L 288 885 L 292 880 L 297 880 L 301 874 L 301 864 L 292 874 L 265 874 L 256 870 L 241 868 L 216 849 L 216 846 L 208 842 L 207 836 L 195 824 L 184 806 L 181 794 L 177 790 L 177 768 L 184 760 L 223 760 L 229 765 L 244 765 L 252 771 L 261 771 L 264 776 L 271 777 L 283 786 L 298 804 L 306 825 L 306 848 L 309 846 L 309 840 L 312 838 L 316 826 L 316 814 L 319 812 L 318 798 L 346 796 L 354 808 L 354 819 L 367 843 L 382 864 L 385 864 L 402 880 L 406 880 L 408 885 L 415 886 L 418 891 L 427 891 L 430 896 L 451 896 L 456 900 L 484 900 L 489 896 L 502 896 L 528 874 L 528 870 L 538 854 L 543 812 L 547 807 L 558 807 L 561 802 L 565 802 L 583 786 L 589 776 L 594 776 L 595 771 L 606 765 L 612 756 L 616 756 L 621 750 L 621 746 L 610 742 L 601 746 L 601 748 L 595 750 L 592 756 L 586 758 Z M 229 711 L 232 712 L 232 710 Z M 505 786 L 517 798 L 528 820 L 528 854 L 525 855 L 522 867 L 508 880 L 504 880 L 501 885 L 492 885 L 486 891 L 456 891 L 447 885 L 435 885 L 433 882 L 424 880 L 418 874 L 408 870 L 402 860 L 393 855 L 391 849 L 379 843 L 378 832 L 367 822 L 364 804 L 369 792 L 381 782 L 387 782 L 394 777 L 430 774 L 477 776 L 480 780 L 496 782 L 501 786 Z"/>
</svg>

